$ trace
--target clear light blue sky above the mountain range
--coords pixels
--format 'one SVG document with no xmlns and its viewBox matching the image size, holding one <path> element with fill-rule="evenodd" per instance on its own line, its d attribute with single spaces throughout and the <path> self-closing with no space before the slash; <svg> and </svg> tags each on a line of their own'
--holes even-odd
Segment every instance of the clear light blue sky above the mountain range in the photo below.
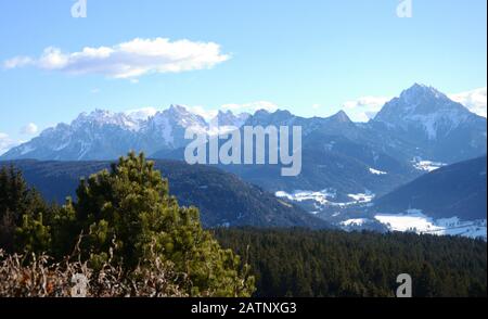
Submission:
<svg viewBox="0 0 488 319">
<path fill-rule="evenodd" d="M 87 0 L 85 18 L 75 2 L 0 1 L 3 146 L 97 107 L 326 116 L 346 105 L 360 119 L 413 82 L 485 88 L 486 100 L 486 0 L 412 0 L 411 18 L 397 16 L 400 0 Z M 140 55 L 165 48 L 172 64 Z"/>
</svg>

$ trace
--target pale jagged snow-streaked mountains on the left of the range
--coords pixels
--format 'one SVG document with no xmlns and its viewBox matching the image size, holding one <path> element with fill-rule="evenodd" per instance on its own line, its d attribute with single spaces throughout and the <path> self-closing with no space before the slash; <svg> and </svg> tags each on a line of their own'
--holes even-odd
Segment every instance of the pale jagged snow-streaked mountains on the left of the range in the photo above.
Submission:
<svg viewBox="0 0 488 319">
<path fill-rule="evenodd" d="M 226 113 L 233 124 L 246 115 Z M 162 150 L 184 146 L 184 131 L 191 127 L 207 131 L 209 124 L 200 115 L 180 105 L 142 116 L 140 113 L 113 113 L 95 110 L 81 113 L 69 125 L 59 124 L 48 128 L 39 137 L 11 149 L 2 160 L 113 160 L 129 150 L 153 154 Z"/>
</svg>

